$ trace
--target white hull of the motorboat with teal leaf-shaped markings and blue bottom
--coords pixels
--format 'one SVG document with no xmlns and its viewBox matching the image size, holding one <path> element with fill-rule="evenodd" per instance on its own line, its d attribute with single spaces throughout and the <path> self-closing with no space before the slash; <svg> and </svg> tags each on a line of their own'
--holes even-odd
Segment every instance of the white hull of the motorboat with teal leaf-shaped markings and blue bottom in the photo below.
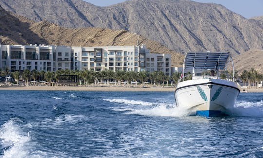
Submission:
<svg viewBox="0 0 263 158">
<path fill-rule="evenodd" d="M 239 89 L 234 82 L 221 79 L 198 79 L 180 82 L 175 91 L 176 105 L 200 116 L 229 114 Z"/>
</svg>

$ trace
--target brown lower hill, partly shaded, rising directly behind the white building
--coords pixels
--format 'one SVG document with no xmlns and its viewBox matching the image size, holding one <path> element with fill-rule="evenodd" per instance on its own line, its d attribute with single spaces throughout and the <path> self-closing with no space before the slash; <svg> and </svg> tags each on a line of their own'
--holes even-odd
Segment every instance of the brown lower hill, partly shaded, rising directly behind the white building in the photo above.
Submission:
<svg viewBox="0 0 263 158">
<path fill-rule="evenodd" d="M 34 22 L 9 13 L 0 7 L 0 43 L 2 44 L 50 44 L 68 46 L 108 46 L 146 44 L 151 53 L 169 53 L 172 65 L 180 66 L 182 54 L 164 45 L 126 30 L 103 28 L 65 28 L 47 21 Z"/>
</svg>

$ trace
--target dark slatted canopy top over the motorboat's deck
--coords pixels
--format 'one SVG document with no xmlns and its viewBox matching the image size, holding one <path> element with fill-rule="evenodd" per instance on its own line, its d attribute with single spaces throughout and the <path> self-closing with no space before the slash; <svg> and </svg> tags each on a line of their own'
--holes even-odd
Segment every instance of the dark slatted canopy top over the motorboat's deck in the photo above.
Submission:
<svg viewBox="0 0 263 158">
<path fill-rule="evenodd" d="M 184 69 L 223 70 L 231 58 L 229 52 L 187 52 Z"/>
</svg>

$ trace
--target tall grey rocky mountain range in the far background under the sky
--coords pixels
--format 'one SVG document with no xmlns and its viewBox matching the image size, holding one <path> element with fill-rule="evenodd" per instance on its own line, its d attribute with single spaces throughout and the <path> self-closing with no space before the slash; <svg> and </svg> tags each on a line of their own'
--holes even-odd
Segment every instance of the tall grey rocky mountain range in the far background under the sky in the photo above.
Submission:
<svg viewBox="0 0 263 158">
<path fill-rule="evenodd" d="M 6 10 L 64 27 L 127 30 L 176 52 L 263 50 L 263 21 L 222 5 L 190 0 L 129 0 L 98 7 L 82 0 L 0 0 Z"/>
</svg>

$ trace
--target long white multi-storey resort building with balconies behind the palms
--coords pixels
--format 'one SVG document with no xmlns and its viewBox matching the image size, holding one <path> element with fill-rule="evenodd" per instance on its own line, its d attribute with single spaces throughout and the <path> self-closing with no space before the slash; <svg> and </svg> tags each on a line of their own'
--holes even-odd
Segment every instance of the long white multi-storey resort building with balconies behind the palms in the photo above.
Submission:
<svg viewBox="0 0 263 158">
<path fill-rule="evenodd" d="M 145 45 L 70 47 L 0 45 L 0 68 L 56 71 L 163 71 L 171 75 L 171 55 L 150 53 Z"/>
</svg>

